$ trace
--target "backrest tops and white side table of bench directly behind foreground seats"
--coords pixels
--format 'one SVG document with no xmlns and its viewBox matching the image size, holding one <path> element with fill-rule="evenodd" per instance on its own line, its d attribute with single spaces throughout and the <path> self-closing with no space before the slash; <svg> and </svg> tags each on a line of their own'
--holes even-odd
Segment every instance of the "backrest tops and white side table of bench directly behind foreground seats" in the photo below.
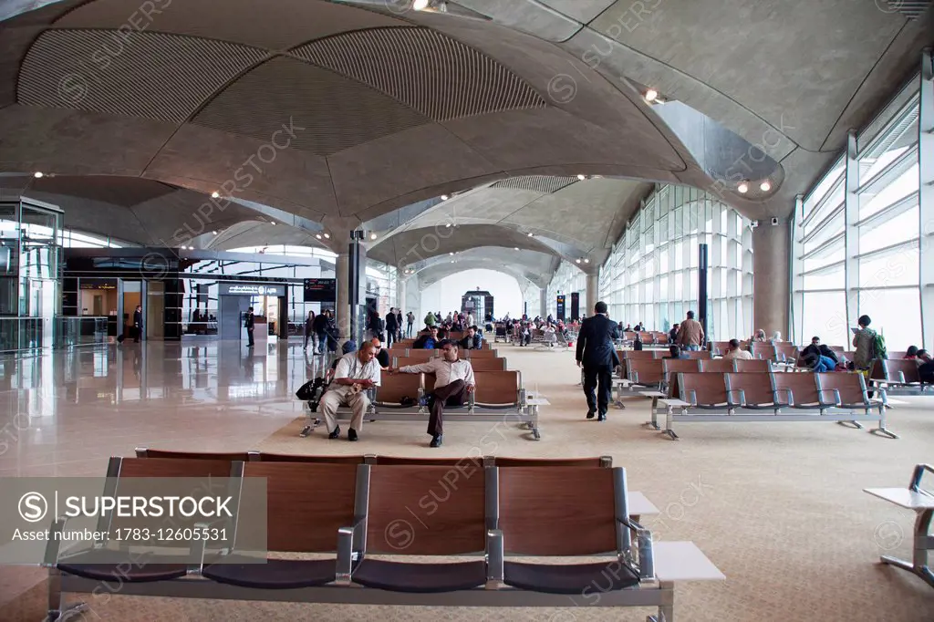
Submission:
<svg viewBox="0 0 934 622">
<path fill-rule="evenodd" d="M 325 462 L 330 464 L 381 464 L 381 465 L 434 465 L 454 467 L 464 473 L 467 469 L 482 469 L 483 467 L 603 467 L 613 466 L 611 456 L 587 458 L 511 458 L 508 456 L 479 456 L 468 455 L 460 458 L 412 458 L 408 456 L 378 456 L 376 454 L 362 455 L 334 455 L 310 456 L 307 454 L 277 454 L 265 451 L 239 451 L 239 452 L 190 452 L 166 451 L 136 447 L 136 458 L 170 458 L 170 459 L 207 459 L 234 461 L 265 461 L 265 462 Z M 643 516 L 658 516 L 658 507 L 638 490 L 630 490 L 630 516 L 639 522 Z"/>
</svg>

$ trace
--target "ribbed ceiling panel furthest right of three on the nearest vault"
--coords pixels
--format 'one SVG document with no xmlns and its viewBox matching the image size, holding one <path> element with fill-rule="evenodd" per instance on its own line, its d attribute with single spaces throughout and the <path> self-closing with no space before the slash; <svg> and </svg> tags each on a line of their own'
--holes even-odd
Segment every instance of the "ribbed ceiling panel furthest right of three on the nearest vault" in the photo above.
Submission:
<svg viewBox="0 0 934 622">
<path fill-rule="evenodd" d="M 545 107 L 522 78 L 473 48 L 427 28 L 375 28 L 291 52 L 372 85 L 433 120 Z"/>
</svg>

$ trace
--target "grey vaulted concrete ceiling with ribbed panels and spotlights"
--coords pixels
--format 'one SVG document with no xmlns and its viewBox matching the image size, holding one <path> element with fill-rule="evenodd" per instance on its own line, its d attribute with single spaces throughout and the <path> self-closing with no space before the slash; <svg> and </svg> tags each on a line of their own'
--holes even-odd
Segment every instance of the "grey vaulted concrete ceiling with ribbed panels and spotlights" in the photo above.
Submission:
<svg viewBox="0 0 934 622">
<path fill-rule="evenodd" d="M 44 199 L 67 204 L 66 221 L 147 244 L 196 231 L 219 191 L 234 200 L 210 228 L 229 230 L 199 246 L 309 246 L 324 228 L 334 249 L 365 223 L 370 256 L 398 265 L 454 219 L 438 255 L 520 247 L 593 269 L 651 182 L 786 218 L 934 32 L 930 10 L 910 20 L 848 0 L 366 4 L 10 0 L 0 174 L 68 178 L 79 201 Z M 673 101 L 649 106 L 644 85 Z M 774 187 L 725 190 L 719 178 L 741 173 Z M 134 231 L 126 206 L 82 198 L 100 192 L 94 176 L 172 198 L 134 208 Z"/>
</svg>

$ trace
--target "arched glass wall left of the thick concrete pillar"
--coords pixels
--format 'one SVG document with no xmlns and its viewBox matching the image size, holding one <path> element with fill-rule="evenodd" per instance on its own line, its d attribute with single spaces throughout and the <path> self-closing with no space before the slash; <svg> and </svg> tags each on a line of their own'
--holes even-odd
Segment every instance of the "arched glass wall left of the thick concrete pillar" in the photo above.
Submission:
<svg viewBox="0 0 934 622">
<path fill-rule="evenodd" d="M 708 245 L 707 332 L 717 340 L 753 332 L 750 221 L 715 195 L 658 185 L 601 267 L 610 318 L 669 331 L 698 310 L 699 245 Z"/>
</svg>

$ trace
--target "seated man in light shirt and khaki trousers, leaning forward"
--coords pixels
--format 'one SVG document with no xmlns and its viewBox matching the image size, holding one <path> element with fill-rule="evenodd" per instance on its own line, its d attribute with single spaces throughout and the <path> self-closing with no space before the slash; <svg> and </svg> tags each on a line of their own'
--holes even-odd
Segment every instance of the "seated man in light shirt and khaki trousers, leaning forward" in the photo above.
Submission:
<svg viewBox="0 0 934 622">
<path fill-rule="evenodd" d="M 370 407 L 370 398 L 366 389 L 380 385 L 379 362 L 375 358 L 375 347 L 369 341 L 363 342 L 356 352 L 350 352 L 337 361 L 334 379 L 328 390 L 321 396 L 320 408 L 324 413 L 324 422 L 328 426 L 328 438 L 337 438 L 341 429 L 334 417 L 340 406 L 350 406 L 353 417 L 350 418 L 350 430 L 347 440 L 356 441 L 357 432 L 363 428 L 363 416 Z"/>
</svg>

